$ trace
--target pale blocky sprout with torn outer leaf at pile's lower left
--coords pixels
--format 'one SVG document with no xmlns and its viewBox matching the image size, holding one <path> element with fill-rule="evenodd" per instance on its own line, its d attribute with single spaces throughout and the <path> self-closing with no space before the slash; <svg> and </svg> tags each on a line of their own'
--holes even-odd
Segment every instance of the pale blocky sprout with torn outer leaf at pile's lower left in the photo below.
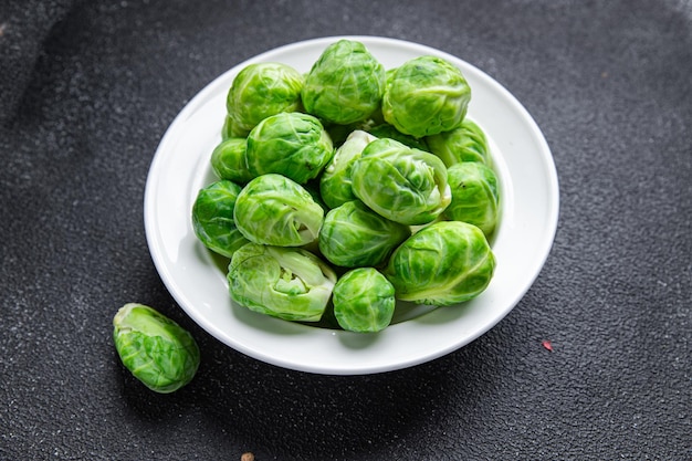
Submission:
<svg viewBox="0 0 692 461">
<path fill-rule="evenodd" d="M 228 282 L 231 298 L 251 311 L 286 321 L 318 322 L 336 274 L 303 249 L 248 243 L 233 254 Z"/>
</svg>

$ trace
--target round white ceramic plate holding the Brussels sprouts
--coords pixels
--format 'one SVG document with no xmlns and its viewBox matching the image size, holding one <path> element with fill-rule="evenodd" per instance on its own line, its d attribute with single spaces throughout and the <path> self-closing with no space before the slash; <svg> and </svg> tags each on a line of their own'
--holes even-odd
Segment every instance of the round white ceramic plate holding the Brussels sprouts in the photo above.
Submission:
<svg viewBox="0 0 692 461">
<path fill-rule="evenodd" d="M 390 69 L 424 54 L 459 66 L 472 101 L 469 117 L 487 134 L 502 191 L 501 226 L 493 239 L 497 266 L 490 286 L 459 306 L 407 307 L 397 323 L 361 335 L 291 323 L 233 304 L 226 261 L 197 240 L 190 210 L 200 188 L 216 180 L 210 155 L 221 140 L 226 96 L 234 76 L 255 62 L 283 62 L 307 72 L 331 36 L 282 46 L 220 75 L 180 112 L 156 151 L 145 191 L 145 228 L 156 269 L 175 300 L 202 328 L 256 359 L 296 370 L 357 375 L 421 364 L 455 350 L 500 322 L 524 296 L 553 244 L 558 217 L 555 165 L 543 134 L 510 92 L 459 57 L 400 40 L 363 42 Z"/>
</svg>

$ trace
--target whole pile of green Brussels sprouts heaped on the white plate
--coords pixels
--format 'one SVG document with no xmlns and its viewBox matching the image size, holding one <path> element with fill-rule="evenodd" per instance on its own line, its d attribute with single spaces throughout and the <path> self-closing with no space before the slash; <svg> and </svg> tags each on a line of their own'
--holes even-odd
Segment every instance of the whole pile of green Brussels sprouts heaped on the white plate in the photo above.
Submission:
<svg viewBox="0 0 692 461">
<path fill-rule="evenodd" d="M 386 70 L 350 40 L 307 74 L 242 69 L 211 153 L 219 179 L 191 211 L 197 238 L 230 259 L 231 298 L 365 333 L 390 324 L 397 300 L 448 306 L 483 292 L 500 197 L 470 99 L 450 62 Z"/>
</svg>

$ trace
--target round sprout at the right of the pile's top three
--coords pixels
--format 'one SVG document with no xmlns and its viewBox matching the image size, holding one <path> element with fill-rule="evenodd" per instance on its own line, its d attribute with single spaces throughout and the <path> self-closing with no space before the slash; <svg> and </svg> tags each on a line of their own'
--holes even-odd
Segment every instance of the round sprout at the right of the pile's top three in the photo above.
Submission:
<svg viewBox="0 0 692 461">
<path fill-rule="evenodd" d="M 471 101 L 461 71 L 437 56 L 419 56 L 396 69 L 382 97 L 385 121 L 413 137 L 457 128 Z"/>
</svg>

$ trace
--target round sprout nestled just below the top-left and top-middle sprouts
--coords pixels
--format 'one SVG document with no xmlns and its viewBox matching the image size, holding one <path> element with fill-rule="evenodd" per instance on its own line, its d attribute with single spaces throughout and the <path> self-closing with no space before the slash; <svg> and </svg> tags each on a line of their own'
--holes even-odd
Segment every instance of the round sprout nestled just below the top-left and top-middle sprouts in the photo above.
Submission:
<svg viewBox="0 0 692 461">
<path fill-rule="evenodd" d="M 272 115 L 248 135 L 245 158 L 254 176 L 277 172 L 305 184 L 322 172 L 333 155 L 332 138 L 310 114 Z"/>
</svg>

